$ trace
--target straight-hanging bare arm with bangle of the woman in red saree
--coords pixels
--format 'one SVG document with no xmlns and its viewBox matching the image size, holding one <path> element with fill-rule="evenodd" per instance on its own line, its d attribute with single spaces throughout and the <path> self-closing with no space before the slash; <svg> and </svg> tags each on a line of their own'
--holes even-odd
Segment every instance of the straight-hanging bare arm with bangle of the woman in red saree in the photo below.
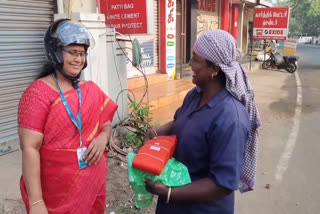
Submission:
<svg viewBox="0 0 320 214">
<path fill-rule="evenodd" d="M 22 150 L 22 174 L 28 193 L 30 212 L 34 209 L 40 209 L 40 212 L 47 213 L 43 201 L 31 206 L 34 202 L 43 200 L 39 153 L 43 141 L 43 134 L 25 128 L 19 128 L 18 132 Z"/>
</svg>

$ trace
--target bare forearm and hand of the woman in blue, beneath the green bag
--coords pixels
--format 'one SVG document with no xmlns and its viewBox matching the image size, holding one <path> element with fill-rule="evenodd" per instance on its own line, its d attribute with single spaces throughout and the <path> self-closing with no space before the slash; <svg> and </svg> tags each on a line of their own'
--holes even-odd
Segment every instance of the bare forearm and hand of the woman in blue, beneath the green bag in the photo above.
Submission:
<svg viewBox="0 0 320 214">
<path fill-rule="evenodd" d="M 146 189 L 167 199 L 169 188 L 162 183 L 145 180 Z M 170 201 L 199 201 L 209 202 L 220 200 L 232 193 L 233 190 L 218 186 L 210 178 L 203 178 L 181 187 L 171 189 Z"/>
</svg>

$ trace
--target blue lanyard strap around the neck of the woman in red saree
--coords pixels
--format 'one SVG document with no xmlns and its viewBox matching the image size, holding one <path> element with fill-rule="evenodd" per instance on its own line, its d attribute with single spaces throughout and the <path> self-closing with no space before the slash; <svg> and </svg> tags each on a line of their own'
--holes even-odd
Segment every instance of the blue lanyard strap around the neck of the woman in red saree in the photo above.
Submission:
<svg viewBox="0 0 320 214">
<path fill-rule="evenodd" d="M 70 106 L 69 104 L 67 103 L 67 100 L 64 96 L 64 94 L 62 93 L 62 90 L 61 90 L 61 87 L 60 87 L 60 84 L 56 78 L 56 75 L 53 74 L 53 77 L 54 79 L 56 80 L 56 83 L 57 83 L 57 86 L 59 88 L 59 94 L 60 94 L 60 97 L 61 97 L 61 100 L 62 100 L 62 103 L 64 105 L 64 107 L 66 108 L 68 114 L 69 114 L 69 117 L 71 119 L 71 121 L 73 122 L 73 124 L 77 127 L 77 129 L 79 130 L 79 133 L 80 133 L 80 148 L 82 147 L 82 136 L 81 136 L 81 131 L 82 131 L 82 125 L 81 125 L 81 91 L 80 91 L 80 87 L 79 87 L 79 84 L 77 84 L 77 92 L 78 92 L 78 97 L 79 97 L 79 111 L 78 111 L 78 116 L 77 116 L 77 119 L 78 119 L 78 123 L 75 119 L 75 117 L 73 116 L 72 114 L 72 111 L 70 109 Z"/>
</svg>

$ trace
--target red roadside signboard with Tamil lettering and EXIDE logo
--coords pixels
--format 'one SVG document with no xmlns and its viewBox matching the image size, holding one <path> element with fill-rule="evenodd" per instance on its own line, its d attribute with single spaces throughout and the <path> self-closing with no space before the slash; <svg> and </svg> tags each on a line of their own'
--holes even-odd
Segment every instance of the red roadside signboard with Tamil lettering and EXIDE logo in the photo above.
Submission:
<svg viewBox="0 0 320 214">
<path fill-rule="evenodd" d="M 289 8 L 256 8 L 253 39 L 286 40 L 288 37 Z"/>
</svg>

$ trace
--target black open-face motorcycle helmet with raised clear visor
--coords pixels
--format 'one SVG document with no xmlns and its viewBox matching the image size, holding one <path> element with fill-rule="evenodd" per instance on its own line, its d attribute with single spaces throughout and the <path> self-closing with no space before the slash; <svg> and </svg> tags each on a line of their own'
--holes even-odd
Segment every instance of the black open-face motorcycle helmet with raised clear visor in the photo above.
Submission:
<svg viewBox="0 0 320 214">
<path fill-rule="evenodd" d="M 47 59 L 49 60 L 49 63 L 59 69 L 65 77 L 74 81 L 74 77 L 70 77 L 62 71 L 62 48 L 71 44 L 84 45 L 87 50 L 90 46 L 94 46 L 94 39 L 84 25 L 70 19 L 59 19 L 48 27 L 44 36 L 44 49 Z M 86 67 L 87 59 L 83 69 Z M 79 77 L 80 74 L 76 79 Z"/>
</svg>

